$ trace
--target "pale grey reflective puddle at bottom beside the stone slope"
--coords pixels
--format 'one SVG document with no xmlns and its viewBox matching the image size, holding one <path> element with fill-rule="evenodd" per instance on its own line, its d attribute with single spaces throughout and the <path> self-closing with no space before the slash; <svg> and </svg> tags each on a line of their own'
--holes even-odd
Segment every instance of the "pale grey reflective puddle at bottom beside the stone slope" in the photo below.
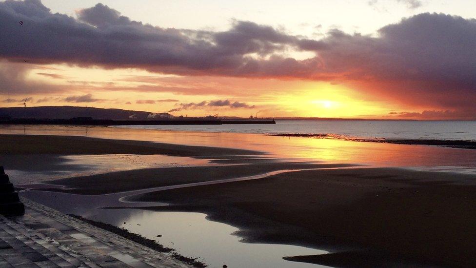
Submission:
<svg viewBox="0 0 476 268">
<path fill-rule="evenodd" d="M 239 242 L 238 228 L 206 219 L 195 212 L 156 212 L 140 209 L 97 211 L 90 219 L 124 227 L 189 257 L 199 257 L 208 267 L 293 268 L 322 267 L 283 260 L 284 256 L 324 254 L 314 248 Z M 123 223 L 126 224 L 123 224 Z M 161 237 L 157 237 L 161 235 Z"/>
</svg>

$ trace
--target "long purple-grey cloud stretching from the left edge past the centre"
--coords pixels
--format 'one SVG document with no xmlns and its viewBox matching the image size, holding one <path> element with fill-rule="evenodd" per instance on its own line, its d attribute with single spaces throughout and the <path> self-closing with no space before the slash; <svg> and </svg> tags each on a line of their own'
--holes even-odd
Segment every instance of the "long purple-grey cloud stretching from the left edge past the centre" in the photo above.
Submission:
<svg viewBox="0 0 476 268">
<path fill-rule="evenodd" d="M 17 23 L 19 19 L 24 25 Z M 5 25 L 0 57 L 11 61 L 139 67 L 181 74 L 272 76 L 276 68 L 251 55 L 275 55 L 287 46 L 298 50 L 325 46 L 250 21 L 235 21 L 223 32 L 154 27 L 131 21 L 102 4 L 80 10 L 76 20 L 52 14 L 38 0 L 5 1 L 0 2 L 0 24 Z M 275 55 L 272 62 L 287 64 L 288 59 Z M 308 65 L 303 62 L 301 68 Z"/>
</svg>

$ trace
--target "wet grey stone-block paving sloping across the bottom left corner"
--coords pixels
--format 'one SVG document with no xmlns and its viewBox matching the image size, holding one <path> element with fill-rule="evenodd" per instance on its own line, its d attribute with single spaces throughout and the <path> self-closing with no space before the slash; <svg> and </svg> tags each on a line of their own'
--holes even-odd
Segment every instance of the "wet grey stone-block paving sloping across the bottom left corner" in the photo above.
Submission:
<svg viewBox="0 0 476 268">
<path fill-rule="evenodd" d="M 25 214 L 0 215 L 0 267 L 189 267 L 163 253 L 21 198 Z"/>
</svg>

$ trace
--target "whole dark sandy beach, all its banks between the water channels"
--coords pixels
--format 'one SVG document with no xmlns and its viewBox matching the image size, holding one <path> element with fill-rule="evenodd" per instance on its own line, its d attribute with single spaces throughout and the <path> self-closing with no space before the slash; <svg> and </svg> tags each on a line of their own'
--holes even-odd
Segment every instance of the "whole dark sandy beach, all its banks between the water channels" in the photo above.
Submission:
<svg viewBox="0 0 476 268">
<path fill-rule="evenodd" d="M 147 210 L 206 213 L 213 221 L 239 227 L 238 235 L 246 242 L 332 252 L 283 256 L 287 260 L 341 267 L 359 263 L 464 267 L 475 261 L 475 175 L 265 159 L 253 163 L 250 159 L 262 152 L 75 136 L 1 135 L 0 144 L 1 155 L 170 154 L 226 160 L 227 164 L 65 178 L 48 182 L 64 189 L 41 189 L 75 194 L 99 195 L 288 170 L 257 180 L 155 191 L 127 200 L 171 204 L 140 207 Z"/>
</svg>

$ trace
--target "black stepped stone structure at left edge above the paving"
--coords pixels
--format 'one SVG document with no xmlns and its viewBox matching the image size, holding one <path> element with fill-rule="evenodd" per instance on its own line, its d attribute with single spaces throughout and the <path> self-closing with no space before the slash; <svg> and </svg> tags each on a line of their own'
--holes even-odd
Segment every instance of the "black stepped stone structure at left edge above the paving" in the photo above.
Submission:
<svg viewBox="0 0 476 268">
<path fill-rule="evenodd" d="M 18 198 L 13 184 L 10 183 L 8 175 L 5 174 L 3 166 L 0 166 L 0 214 L 2 215 L 23 215 L 25 207 Z"/>
</svg>

